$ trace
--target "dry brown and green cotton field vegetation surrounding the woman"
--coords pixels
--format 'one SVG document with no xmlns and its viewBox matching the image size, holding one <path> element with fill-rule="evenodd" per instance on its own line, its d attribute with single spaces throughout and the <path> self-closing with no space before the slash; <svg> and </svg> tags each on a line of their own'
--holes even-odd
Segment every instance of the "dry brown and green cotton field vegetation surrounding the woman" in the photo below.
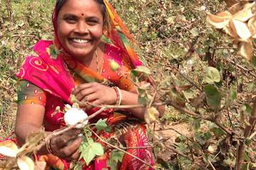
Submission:
<svg viewBox="0 0 256 170">
<path fill-rule="evenodd" d="M 4 4 L 0 6 L 0 130 L 3 139 L 11 134 L 14 125 L 15 73 L 37 40 L 52 38 L 50 18 L 54 2 L 0 0 L 0 4 Z M 139 90 L 142 104 L 149 108 L 146 121 L 156 169 L 256 169 L 255 57 L 238 48 L 241 39 L 249 42 L 239 36 L 242 28 L 235 27 L 237 34 L 229 33 L 230 38 L 223 33 L 225 31 L 215 30 L 206 23 L 206 12 L 227 11 L 235 0 L 226 0 L 228 6 L 221 0 L 111 2 L 137 40 L 137 52 L 150 67 L 157 84 L 156 89 L 144 86 Z M 240 1 L 238 11 L 246 3 L 249 2 Z M 255 11 L 255 4 L 252 11 Z M 247 16 L 247 13 L 240 15 Z M 230 20 L 229 16 L 220 16 L 212 16 L 208 21 L 213 21 L 214 26 L 214 23 Z M 249 43 L 254 45 L 251 37 Z M 133 72 L 134 81 L 139 84 L 138 72 L 149 72 L 146 69 Z M 156 97 L 156 92 L 167 108 L 164 117 L 154 125 L 151 120 L 156 112 L 151 98 Z M 159 133 L 182 121 L 190 127 L 189 133 L 172 129 L 169 136 L 178 134 L 175 140 Z M 99 123 L 105 126 L 102 120 Z"/>
</svg>

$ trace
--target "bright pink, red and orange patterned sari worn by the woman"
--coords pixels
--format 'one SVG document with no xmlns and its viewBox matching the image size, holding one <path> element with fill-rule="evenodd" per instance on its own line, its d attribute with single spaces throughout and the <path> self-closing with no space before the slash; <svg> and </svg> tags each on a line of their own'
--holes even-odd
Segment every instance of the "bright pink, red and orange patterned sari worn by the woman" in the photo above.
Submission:
<svg viewBox="0 0 256 170">
<path fill-rule="evenodd" d="M 108 43 L 105 44 L 100 74 L 85 67 L 85 65 L 75 60 L 63 50 L 57 37 L 56 11 L 53 13 L 55 40 L 41 40 L 36 43 L 33 48 L 36 55 L 26 57 L 21 69 L 16 74 L 23 88 L 31 89 L 32 87 L 33 89 L 32 93 L 30 93 L 31 96 L 26 94 L 19 96 L 22 99 L 19 104 L 36 103 L 45 106 L 46 111 L 43 125 L 47 131 L 65 127 L 63 113 L 55 113 L 55 110 L 60 108 L 60 111 L 63 111 L 67 103 L 72 105 L 70 94 L 75 86 L 89 82 L 98 82 L 107 86 L 118 86 L 126 91 L 130 91 L 134 87 L 129 74 L 131 69 L 142 65 L 142 62 L 139 61 L 136 53 L 129 45 L 127 38 L 132 40 L 132 36 L 129 35 L 129 31 L 125 28 L 114 8 L 107 1 L 105 1 L 105 6 L 110 16 L 111 28 L 107 35 L 105 35 Z M 58 55 L 51 55 L 50 51 Z M 117 72 L 113 72 L 110 67 L 110 62 L 113 60 L 120 66 Z M 26 84 L 26 82 L 28 83 Z M 37 99 L 35 100 L 35 98 Z M 99 108 L 92 108 L 90 111 L 87 111 L 87 114 L 90 115 L 98 110 Z M 154 165 L 153 156 L 146 137 L 146 126 L 142 121 L 134 118 L 131 113 L 107 109 L 90 120 L 90 123 L 95 123 L 100 118 L 107 119 L 107 125 L 112 125 L 110 132 L 99 132 L 98 135 L 102 139 L 122 137 L 125 146 L 132 148 L 127 149 L 127 152 L 144 160 L 144 162 L 148 162 L 152 166 Z M 97 139 L 95 138 L 95 140 Z M 100 141 L 97 140 L 97 142 Z M 102 146 L 107 147 L 104 144 Z M 111 150 L 108 149 L 102 157 L 96 157 L 90 165 L 84 166 L 82 169 L 110 169 L 107 166 L 110 154 Z M 53 154 L 38 156 L 38 160 L 45 161 L 48 168 L 70 169 L 69 162 L 59 159 Z M 134 159 L 129 154 L 124 154 L 119 169 L 137 170 L 151 168 L 138 159 Z"/>
</svg>

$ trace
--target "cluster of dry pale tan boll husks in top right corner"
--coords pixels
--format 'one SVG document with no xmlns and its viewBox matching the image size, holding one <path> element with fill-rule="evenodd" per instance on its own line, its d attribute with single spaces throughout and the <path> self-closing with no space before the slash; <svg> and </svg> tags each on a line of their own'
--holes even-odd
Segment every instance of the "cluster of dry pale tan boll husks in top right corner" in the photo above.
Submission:
<svg viewBox="0 0 256 170">
<path fill-rule="evenodd" d="M 227 4 L 230 6 L 228 11 L 222 11 L 217 15 L 207 13 L 207 22 L 230 35 L 234 42 L 239 44 L 240 55 L 252 61 L 252 40 L 256 39 L 256 3 L 230 0 Z"/>
</svg>

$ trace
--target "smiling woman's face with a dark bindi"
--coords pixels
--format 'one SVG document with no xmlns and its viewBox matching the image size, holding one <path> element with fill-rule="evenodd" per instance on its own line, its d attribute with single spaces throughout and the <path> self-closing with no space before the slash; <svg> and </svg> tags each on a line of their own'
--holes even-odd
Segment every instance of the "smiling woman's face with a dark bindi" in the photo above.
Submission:
<svg viewBox="0 0 256 170">
<path fill-rule="evenodd" d="M 67 0 L 58 13 L 58 39 L 73 57 L 93 56 L 102 38 L 103 16 L 95 0 Z"/>
</svg>

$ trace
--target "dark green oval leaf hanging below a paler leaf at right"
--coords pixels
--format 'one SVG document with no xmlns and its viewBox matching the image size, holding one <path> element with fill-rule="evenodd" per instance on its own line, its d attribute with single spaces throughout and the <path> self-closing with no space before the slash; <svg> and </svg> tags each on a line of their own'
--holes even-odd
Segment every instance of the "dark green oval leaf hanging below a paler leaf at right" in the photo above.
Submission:
<svg viewBox="0 0 256 170">
<path fill-rule="evenodd" d="M 215 86 L 208 84 L 203 87 L 203 91 L 206 93 L 206 101 L 208 106 L 216 110 L 221 100 L 220 92 L 218 89 L 216 89 Z"/>
</svg>

